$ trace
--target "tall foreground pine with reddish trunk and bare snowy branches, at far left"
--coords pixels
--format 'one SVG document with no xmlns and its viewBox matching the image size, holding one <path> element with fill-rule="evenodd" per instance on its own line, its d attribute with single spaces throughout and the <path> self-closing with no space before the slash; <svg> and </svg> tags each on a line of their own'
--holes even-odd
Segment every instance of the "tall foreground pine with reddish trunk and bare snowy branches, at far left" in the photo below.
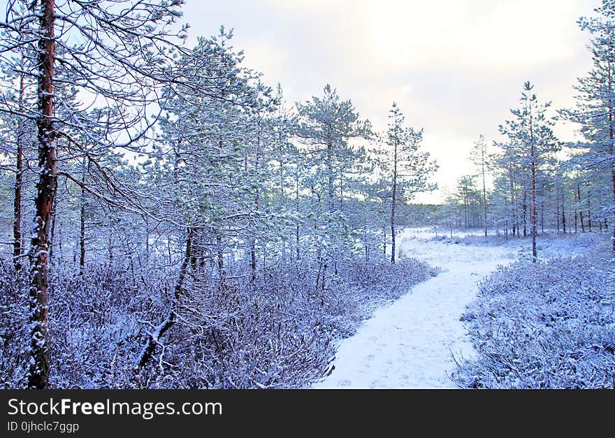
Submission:
<svg viewBox="0 0 615 438">
<path fill-rule="evenodd" d="M 57 4 L 54 0 L 20 0 L 8 3 L 6 21 L 0 22 L 4 33 L 1 60 L 13 66 L 15 59 L 29 57 L 27 75 L 38 82 L 36 111 L 25 115 L 36 121 L 38 131 L 36 213 L 29 252 L 31 388 L 48 387 L 48 257 L 58 147 L 70 145 L 81 154 L 85 152 L 85 145 L 71 136 L 71 129 L 93 143 L 118 146 L 87 129 L 84 110 L 71 105 L 57 82 L 68 82 L 84 96 L 110 103 L 108 117 L 96 122 L 108 138 L 124 133 L 129 138 L 124 146 L 133 145 L 151 126 L 143 121 L 148 104 L 159 101 L 157 85 L 172 78 L 168 66 L 176 45 L 171 40 L 178 35 L 168 27 L 180 17 L 181 3 L 132 0 L 119 11 L 113 1 Z M 22 50 L 29 44 L 36 44 L 36 54 Z M 58 108 L 64 109 L 61 117 Z M 0 110 L 22 114 L 18 102 Z"/>
</svg>

